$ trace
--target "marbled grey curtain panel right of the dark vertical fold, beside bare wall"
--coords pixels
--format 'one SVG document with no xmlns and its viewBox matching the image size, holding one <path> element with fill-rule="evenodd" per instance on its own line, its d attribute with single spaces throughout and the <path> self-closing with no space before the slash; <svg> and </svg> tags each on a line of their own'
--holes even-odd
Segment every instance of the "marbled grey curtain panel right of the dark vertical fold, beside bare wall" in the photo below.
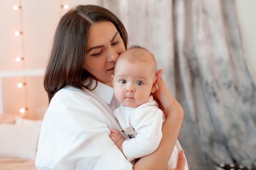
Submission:
<svg viewBox="0 0 256 170">
<path fill-rule="evenodd" d="M 176 94 L 185 112 L 180 143 L 192 169 L 221 162 L 256 167 L 256 89 L 234 3 L 173 4 Z"/>
</svg>

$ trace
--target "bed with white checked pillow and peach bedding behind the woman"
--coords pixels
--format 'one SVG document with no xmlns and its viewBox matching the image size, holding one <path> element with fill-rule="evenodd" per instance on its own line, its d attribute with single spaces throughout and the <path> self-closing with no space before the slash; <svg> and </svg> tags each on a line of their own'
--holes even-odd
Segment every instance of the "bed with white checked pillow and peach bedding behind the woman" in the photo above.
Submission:
<svg viewBox="0 0 256 170">
<path fill-rule="evenodd" d="M 0 170 L 36 170 L 42 120 L 0 115 Z"/>
</svg>

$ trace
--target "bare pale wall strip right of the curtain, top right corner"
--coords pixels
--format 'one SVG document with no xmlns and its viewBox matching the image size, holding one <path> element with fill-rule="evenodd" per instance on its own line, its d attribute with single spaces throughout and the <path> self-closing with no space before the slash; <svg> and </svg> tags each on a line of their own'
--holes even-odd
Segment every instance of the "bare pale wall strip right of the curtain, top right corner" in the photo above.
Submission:
<svg viewBox="0 0 256 170">
<path fill-rule="evenodd" d="M 236 0 L 249 71 L 256 84 L 256 0 Z"/>
</svg>

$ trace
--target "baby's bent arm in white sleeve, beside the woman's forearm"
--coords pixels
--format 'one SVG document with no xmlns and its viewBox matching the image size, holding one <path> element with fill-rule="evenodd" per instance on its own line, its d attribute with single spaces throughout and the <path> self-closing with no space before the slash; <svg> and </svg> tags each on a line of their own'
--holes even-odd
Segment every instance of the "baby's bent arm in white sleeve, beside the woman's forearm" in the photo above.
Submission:
<svg viewBox="0 0 256 170">
<path fill-rule="evenodd" d="M 155 106 L 149 107 L 137 110 L 139 113 L 132 115 L 128 123 L 137 132 L 135 138 L 124 140 L 122 144 L 128 161 L 153 153 L 162 138 L 163 112 Z"/>
</svg>

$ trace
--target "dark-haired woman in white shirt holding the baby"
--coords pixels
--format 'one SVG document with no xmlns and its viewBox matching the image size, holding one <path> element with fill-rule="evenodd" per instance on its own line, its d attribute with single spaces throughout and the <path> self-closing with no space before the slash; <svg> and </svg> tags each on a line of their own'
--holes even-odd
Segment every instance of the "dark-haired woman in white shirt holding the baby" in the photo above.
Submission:
<svg viewBox="0 0 256 170">
<path fill-rule="evenodd" d="M 49 108 L 38 142 L 38 170 L 166 168 L 183 110 L 166 88 L 162 70 L 153 94 L 167 116 L 159 148 L 132 166 L 110 139 L 110 129 L 120 128 L 112 115 L 119 103 L 110 77 L 127 44 L 123 24 L 107 9 L 79 5 L 63 15 L 45 73 Z M 183 152 L 177 169 L 184 170 Z"/>
</svg>

